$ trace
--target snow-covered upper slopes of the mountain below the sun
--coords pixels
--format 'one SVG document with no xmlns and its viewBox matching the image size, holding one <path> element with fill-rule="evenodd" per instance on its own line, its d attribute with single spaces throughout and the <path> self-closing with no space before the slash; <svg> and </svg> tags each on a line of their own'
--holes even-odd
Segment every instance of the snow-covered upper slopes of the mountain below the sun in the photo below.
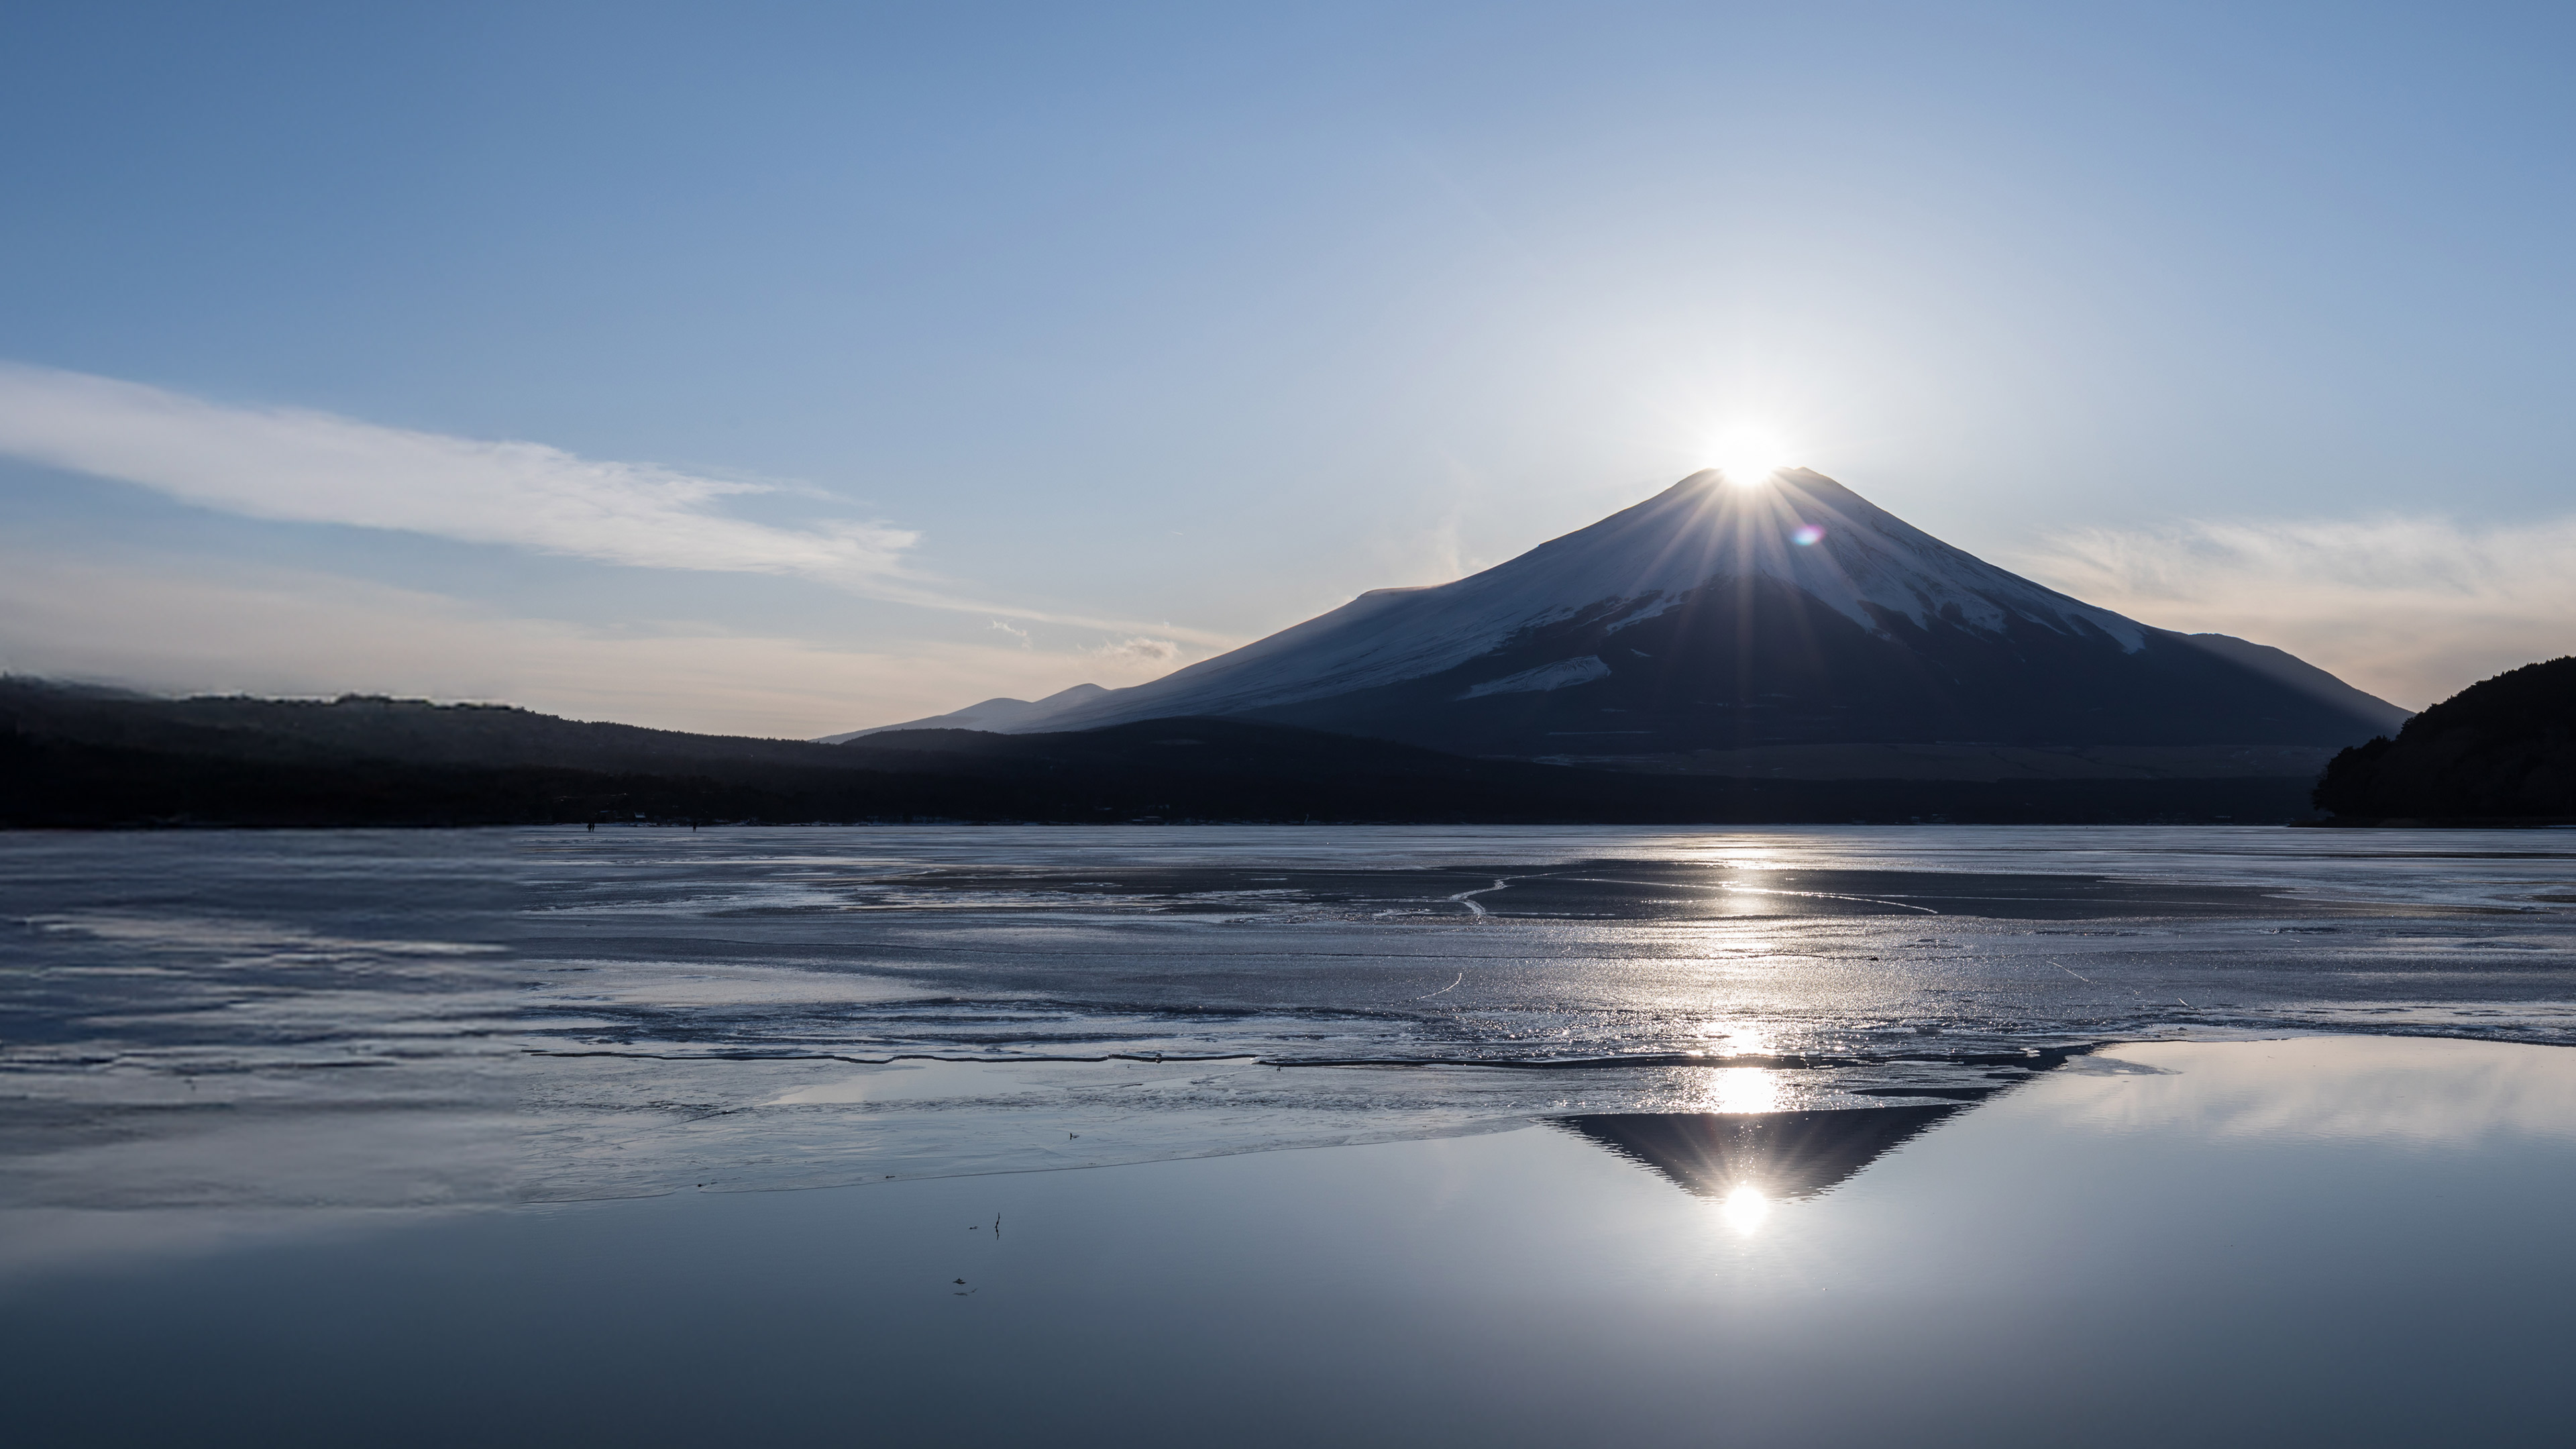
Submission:
<svg viewBox="0 0 2576 1449">
<path fill-rule="evenodd" d="M 1801 544 L 1801 536 L 1814 541 Z M 1698 472 L 1458 583 L 1376 588 L 1229 655 L 1007 730 L 1239 714 L 1399 683 L 1602 606 L 1625 606 L 1618 621 L 1643 621 L 1713 580 L 1783 583 L 1870 632 L 1886 632 L 1886 616 L 1978 629 L 2027 619 L 2061 634 L 2107 637 L 2123 650 L 2146 639 L 2143 624 L 1953 549 L 1819 472 L 1790 469 L 1757 487 L 1728 487 L 1716 472 Z"/>
</svg>

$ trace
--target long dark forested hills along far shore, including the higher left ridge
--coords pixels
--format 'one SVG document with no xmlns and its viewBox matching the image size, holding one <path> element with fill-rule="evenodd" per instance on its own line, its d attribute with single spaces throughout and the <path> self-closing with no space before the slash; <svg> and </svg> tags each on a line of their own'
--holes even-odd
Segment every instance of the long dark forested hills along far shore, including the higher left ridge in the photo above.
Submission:
<svg viewBox="0 0 2576 1449">
<path fill-rule="evenodd" d="M 420 701 L 162 701 L 0 681 L 0 822 L 582 820 L 2280 822 L 2306 784 L 1736 781 L 1473 761 L 1236 719 L 850 745 Z"/>
</svg>

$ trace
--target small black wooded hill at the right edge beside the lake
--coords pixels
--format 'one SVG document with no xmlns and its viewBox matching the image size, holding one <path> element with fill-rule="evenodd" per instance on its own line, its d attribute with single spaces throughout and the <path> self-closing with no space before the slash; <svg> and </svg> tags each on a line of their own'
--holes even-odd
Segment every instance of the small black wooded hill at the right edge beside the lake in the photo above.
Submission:
<svg viewBox="0 0 2576 1449">
<path fill-rule="evenodd" d="M 2576 657 L 2473 683 L 2326 766 L 2336 817 L 2576 817 Z"/>
</svg>

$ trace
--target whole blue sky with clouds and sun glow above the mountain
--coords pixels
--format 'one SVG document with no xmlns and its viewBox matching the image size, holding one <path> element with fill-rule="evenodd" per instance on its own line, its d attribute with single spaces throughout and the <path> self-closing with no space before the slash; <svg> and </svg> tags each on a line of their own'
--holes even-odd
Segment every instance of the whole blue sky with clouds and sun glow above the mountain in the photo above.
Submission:
<svg viewBox="0 0 2576 1449">
<path fill-rule="evenodd" d="M 814 735 L 1731 425 L 2403 704 L 2576 647 L 2576 13 L 18 5 L 0 665 Z"/>
</svg>

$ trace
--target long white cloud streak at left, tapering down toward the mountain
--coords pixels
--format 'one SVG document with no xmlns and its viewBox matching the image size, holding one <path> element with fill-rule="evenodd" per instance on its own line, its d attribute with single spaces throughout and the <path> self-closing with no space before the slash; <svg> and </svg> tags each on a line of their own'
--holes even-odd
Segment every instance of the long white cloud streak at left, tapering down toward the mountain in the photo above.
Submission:
<svg viewBox="0 0 2576 1449">
<path fill-rule="evenodd" d="M 796 575 L 894 603 L 1139 629 L 966 598 L 909 567 L 907 552 L 920 541 L 912 529 L 755 523 L 726 513 L 724 500 L 770 485 L 585 459 L 546 443 L 384 428 L 304 407 L 229 407 L 111 376 L 0 364 L 0 454 L 250 518 L 399 529 L 634 567 Z"/>
</svg>

